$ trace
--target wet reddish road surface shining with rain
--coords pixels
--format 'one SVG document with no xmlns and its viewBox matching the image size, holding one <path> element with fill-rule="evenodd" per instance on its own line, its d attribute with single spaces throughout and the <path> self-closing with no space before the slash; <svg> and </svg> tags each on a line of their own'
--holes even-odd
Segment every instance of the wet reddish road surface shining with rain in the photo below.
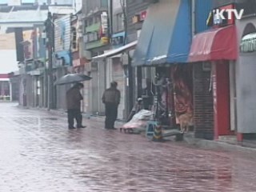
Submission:
<svg viewBox="0 0 256 192">
<path fill-rule="evenodd" d="M 0 192 L 255 192 L 256 161 L 0 103 Z"/>
</svg>

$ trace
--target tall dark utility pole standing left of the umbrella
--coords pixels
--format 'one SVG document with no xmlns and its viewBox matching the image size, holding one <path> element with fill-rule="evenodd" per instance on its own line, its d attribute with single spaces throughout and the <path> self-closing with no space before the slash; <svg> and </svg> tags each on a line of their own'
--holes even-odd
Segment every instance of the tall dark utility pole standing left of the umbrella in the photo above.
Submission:
<svg viewBox="0 0 256 192">
<path fill-rule="evenodd" d="M 48 50 L 48 110 L 54 108 L 54 77 L 53 77 L 53 49 L 54 49 L 54 23 L 53 16 L 49 12 L 45 22 L 46 46 Z"/>
</svg>

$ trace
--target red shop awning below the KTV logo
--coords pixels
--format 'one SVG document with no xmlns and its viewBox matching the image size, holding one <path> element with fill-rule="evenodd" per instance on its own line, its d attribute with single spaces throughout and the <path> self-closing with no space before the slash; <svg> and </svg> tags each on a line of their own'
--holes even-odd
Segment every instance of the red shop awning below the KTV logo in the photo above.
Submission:
<svg viewBox="0 0 256 192">
<path fill-rule="evenodd" d="M 189 62 L 235 60 L 238 58 L 235 26 L 206 30 L 196 34 L 190 48 Z"/>
</svg>

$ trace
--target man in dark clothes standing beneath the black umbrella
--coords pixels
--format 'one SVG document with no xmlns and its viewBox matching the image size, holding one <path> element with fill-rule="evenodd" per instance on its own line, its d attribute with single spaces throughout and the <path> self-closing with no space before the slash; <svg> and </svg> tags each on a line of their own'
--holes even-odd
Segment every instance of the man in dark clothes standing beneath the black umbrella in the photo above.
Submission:
<svg viewBox="0 0 256 192">
<path fill-rule="evenodd" d="M 86 127 L 86 126 L 82 126 L 81 100 L 83 98 L 82 98 L 82 94 L 80 93 L 80 90 L 82 88 L 83 88 L 83 84 L 79 82 L 66 92 L 66 108 L 67 108 L 69 129 L 75 129 L 74 118 L 76 119 L 76 122 L 77 122 L 77 128 Z"/>
</svg>

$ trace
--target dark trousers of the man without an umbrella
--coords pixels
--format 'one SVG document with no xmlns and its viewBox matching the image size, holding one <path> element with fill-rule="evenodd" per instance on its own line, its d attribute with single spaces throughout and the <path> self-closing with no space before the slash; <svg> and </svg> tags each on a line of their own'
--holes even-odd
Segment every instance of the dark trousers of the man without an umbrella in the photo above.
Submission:
<svg viewBox="0 0 256 192">
<path fill-rule="evenodd" d="M 106 108 L 105 128 L 112 129 L 114 128 L 114 122 L 118 117 L 118 106 L 114 105 L 113 103 L 106 103 L 105 108 Z"/>
</svg>

